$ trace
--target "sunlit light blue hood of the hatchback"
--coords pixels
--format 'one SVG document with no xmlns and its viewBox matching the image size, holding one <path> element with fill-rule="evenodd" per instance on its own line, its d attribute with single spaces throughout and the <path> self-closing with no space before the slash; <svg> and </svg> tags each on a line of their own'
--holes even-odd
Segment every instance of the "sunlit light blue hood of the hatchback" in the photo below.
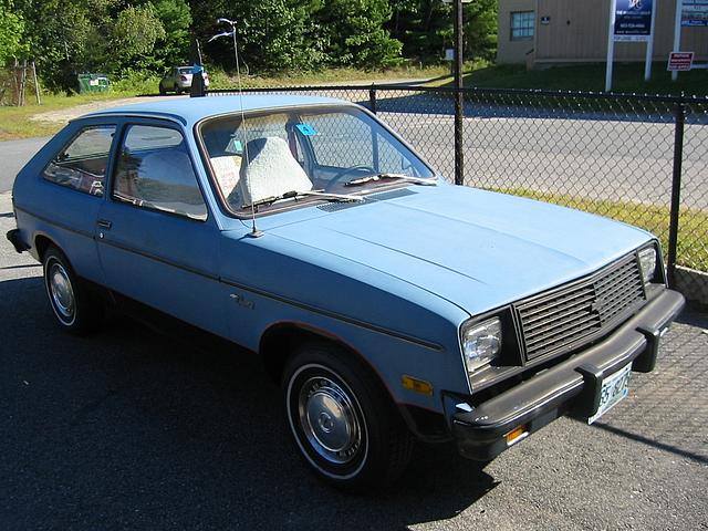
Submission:
<svg viewBox="0 0 708 531">
<path fill-rule="evenodd" d="M 308 209 L 317 215 L 268 232 L 402 279 L 470 314 L 589 274 L 652 238 L 598 216 L 467 187 L 371 197 Z"/>
</svg>

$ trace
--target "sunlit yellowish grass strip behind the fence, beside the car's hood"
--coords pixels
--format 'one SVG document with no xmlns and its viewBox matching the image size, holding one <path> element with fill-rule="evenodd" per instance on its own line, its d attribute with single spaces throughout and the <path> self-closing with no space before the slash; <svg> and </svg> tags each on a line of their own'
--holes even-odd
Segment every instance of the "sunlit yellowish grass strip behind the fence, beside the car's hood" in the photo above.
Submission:
<svg viewBox="0 0 708 531">
<path fill-rule="evenodd" d="M 492 188 L 493 191 L 512 194 L 642 227 L 656 235 L 662 248 L 668 249 L 669 209 L 667 207 L 629 201 L 585 199 L 561 194 L 537 191 L 528 188 Z M 708 210 L 681 207 L 678 218 L 677 263 L 699 271 L 708 271 Z"/>
</svg>

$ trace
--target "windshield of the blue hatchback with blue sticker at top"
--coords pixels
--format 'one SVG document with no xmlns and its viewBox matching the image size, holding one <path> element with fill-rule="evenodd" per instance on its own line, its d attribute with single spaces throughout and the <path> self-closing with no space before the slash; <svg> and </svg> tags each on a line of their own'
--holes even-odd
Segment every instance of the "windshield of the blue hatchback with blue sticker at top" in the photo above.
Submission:
<svg viewBox="0 0 708 531">
<path fill-rule="evenodd" d="M 214 180 L 237 215 L 361 196 L 434 171 L 353 106 L 304 107 L 212 118 L 200 127 Z M 373 177 L 365 179 L 365 177 Z M 424 183 L 425 184 L 425 183 Z M 332 198 L 330 198 L 332 199 Z"/>
</svg>

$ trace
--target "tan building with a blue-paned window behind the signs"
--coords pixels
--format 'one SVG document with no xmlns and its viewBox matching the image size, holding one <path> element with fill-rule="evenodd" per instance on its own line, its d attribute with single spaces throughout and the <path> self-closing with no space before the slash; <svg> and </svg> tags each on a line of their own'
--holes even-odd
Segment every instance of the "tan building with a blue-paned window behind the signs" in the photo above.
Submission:
<svg viewBox="0 0 708 531">
<path fill-rule="evenodd" d="M 607 59 L 611 0 L 499 0 L 497 63 L 543 67 Z M 654 0 L 654 61 L 667 61 L 674 44 L 676 0 Z M 681 50 L 708 61 L 708 28 L 683 28 Z M 616 42 L 615 61 L 644 61 L 646 44 Z"/>
</svg>

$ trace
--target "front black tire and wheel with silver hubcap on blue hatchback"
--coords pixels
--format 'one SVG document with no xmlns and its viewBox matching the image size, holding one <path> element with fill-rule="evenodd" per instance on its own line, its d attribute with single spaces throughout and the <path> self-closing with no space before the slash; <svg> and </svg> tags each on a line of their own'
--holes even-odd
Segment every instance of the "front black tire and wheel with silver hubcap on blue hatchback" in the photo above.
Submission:
<svg viewBox="0 0 708 531">
<path fill-rule="evenodd" d="M 388 486 L 405 470 L 413 437 L 358 360 L 327 343 L 306 343 L 290 357 L 282 383 L 295 447 L 319 478 L 361 492 Z"/>
</svg>

